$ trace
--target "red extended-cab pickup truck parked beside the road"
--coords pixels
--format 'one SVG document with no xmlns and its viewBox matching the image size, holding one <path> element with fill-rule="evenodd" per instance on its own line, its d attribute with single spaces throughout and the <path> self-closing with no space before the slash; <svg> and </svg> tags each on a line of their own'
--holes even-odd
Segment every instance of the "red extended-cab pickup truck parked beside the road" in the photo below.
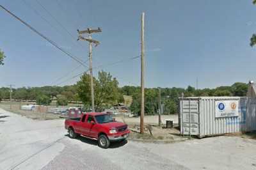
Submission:
<svg viewBox="0 0 256 170">
<path fill-rule="evenodd" d="M 95 139 L 101 148 L 108 148 L 111 141 L 124 141 L 130 130 L 122 122 L 115 121 L 110 114 L 103 112 L 88 112 L 81 114 L 81 118 L 68 118 L 65 128 L 70 138 L 77 135 Z"/>
</svg>

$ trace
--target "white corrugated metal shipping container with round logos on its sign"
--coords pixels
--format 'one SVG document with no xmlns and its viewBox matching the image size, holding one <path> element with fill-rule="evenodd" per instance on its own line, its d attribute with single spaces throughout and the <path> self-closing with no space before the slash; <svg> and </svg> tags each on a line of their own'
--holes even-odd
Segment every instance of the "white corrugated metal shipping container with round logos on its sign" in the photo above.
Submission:
<svg viewBox="0 0 256 170">
<path fill-rule="evenodd" d="M 180 98 L 180 134 L 198 137 L 256 130 L 256 100 L 248 97 Z"/>
</svg>

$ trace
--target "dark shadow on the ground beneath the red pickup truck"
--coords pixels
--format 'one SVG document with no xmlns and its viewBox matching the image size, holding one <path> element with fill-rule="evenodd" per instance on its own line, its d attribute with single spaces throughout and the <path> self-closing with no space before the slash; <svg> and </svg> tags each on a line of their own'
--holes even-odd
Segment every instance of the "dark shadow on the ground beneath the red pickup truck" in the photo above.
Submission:
<svg viewBox="0 0 256 170">
<path fill-rule="evenodd" d="M 68 134 L 66 134 L 65 136 L 68 137 Z M 74 139 L 74 140 L 79 140 L 79 141 L 81 141 L 81 142 L 83 142 L 83 143 L 87 143 L 87 144 L 92 144 L 92 145 L 98 146 L 98 141 L 95 141 L 95 140 L 93 140 L 93 139 L 88 139 L 88 138 L 86 138 L 86 137 L 82 137 L 81 135 L 78 135 L 78 136 L 76 137 L 76 139 Z M 128 143 L 127 140 L 122 141 L 122 142 L 111 142 L 109 148 L 111 148 L 111 149 L 119 148 L 119 147 L 121 147 L 121 146 L 124 146 L 124 145 L 127 144 L 127 143 Z"/>
</svg>

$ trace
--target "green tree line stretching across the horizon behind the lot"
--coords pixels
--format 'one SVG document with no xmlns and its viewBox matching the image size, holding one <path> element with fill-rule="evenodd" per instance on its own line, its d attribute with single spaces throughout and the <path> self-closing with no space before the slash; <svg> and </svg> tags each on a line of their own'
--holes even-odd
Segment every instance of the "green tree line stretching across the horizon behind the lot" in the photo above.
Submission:
<svg viewBox="0 0 256 170">
<path fill-rule="evenodd" d="M 110 73 L 101 71 L 97 77 L 93 77 L 95 89 L 95 109 L 102 111 L 104 108 L 123 103 L 123 95 L 132 97 L 131 111 L 140 114 L 140 87 L 118 87 L 118 81 Z M 164 114 L 177 113 L 179 97 L 211 97 L 211 96 L 246 96 L 248 84 L 236 82 L 232 86 L 220 86 L 218 88 L 195 89 L 188 88 L 161 88 L 161 101 L 164 104 Z M 68 102 L 83 102 L 85 109 L 90 110 L 91 105 L 90 76 L 86 73 L 80 81 L 72 86 L 43 86 L 13 88 L 14 100 L 36 100 L 37 104 L 50 104 L 51 100 L 57 100 L 58 105 L 67 105 Z M 156 114 L 159 108 L 158 88 L 145 88 L 145 113 Z M 10 89 L 0 88 L 0 99 L 10 98 Z"/>
</svg>

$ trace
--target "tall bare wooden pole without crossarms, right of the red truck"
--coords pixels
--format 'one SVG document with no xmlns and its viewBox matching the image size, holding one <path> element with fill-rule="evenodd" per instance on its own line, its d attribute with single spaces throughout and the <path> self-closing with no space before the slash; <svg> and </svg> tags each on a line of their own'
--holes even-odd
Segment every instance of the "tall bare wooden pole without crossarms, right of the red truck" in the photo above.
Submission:
<svg viewBox="0 0 256 170">
<path fill-rule="evenodd" d="M 141 109 L 140 109 L 140 133 L 144 133 L 144 17 L 141 15 Z"/>
</svg>

